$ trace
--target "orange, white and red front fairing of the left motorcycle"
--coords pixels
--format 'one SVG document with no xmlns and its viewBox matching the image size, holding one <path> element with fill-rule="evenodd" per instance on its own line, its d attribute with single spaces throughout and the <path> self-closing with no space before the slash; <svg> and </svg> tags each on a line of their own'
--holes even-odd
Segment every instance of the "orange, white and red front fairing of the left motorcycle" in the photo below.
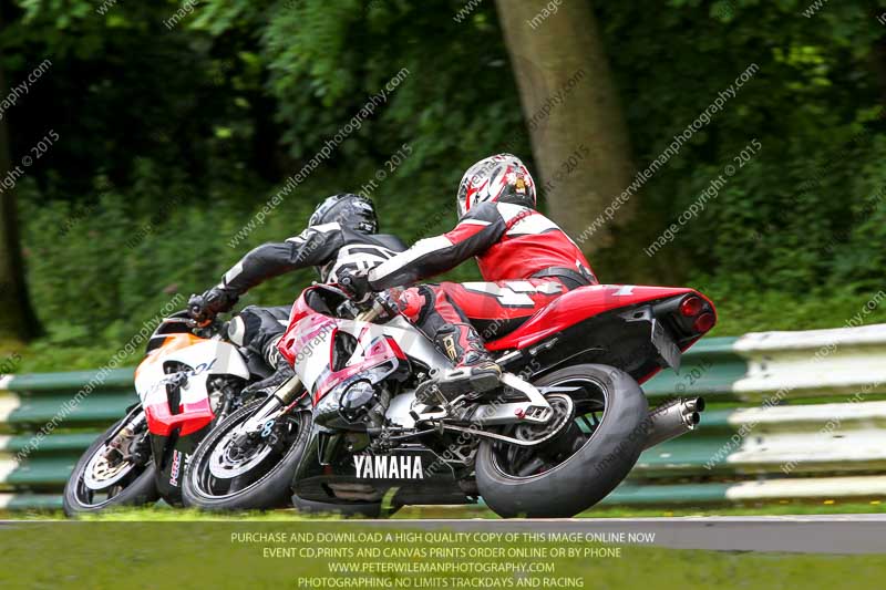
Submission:
<svg viewBox="0 0 886 590">
<path fill-rule="evenodd" d="M 166 374 L 167 362 L 182 363 L 188 371 Z M 135 390 L 142 400 L 148 432 L 169 436 L 193 434 L 209 424 L 213 413 L 206 382 L 214 375 L 249 379 L 249 370 L 239 351 L 220 340 L 206 340 L 193 334 L 171 334 L 164 344 L 152 351 L 135 371 Z M 166 385 L 181 382 L 181 403 L 173 413 Z"/>
</svg>

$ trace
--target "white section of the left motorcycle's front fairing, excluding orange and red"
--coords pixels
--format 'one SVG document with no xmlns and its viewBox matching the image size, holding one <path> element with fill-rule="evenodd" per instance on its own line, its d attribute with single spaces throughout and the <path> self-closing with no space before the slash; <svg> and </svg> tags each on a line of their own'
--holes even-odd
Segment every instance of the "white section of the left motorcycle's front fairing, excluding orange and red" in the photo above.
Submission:
<svg viewBox="0 0 886 590">
<path fill-rule="evenodd" d="M 175 379 L 187 377 L 182 386 L 182 403 L 194 403 L 206 397 L 206 380 L 212 375 L 235 375 L 249 379 L 249 369 L 236 346 L 220 340 L 207 340 L 193 346 L 175 350 L 167 354 L 163 349 L 157 352 L 154 362 L 143 363 L 135 377 L 135 391 L 143 405 L 151 405 L 152 400 L 166 398 L 167 383 Z M 177 374 L 164 374 L 163 365 L 167 361 L 181 362 L 192 371 Z"/>
</svg>

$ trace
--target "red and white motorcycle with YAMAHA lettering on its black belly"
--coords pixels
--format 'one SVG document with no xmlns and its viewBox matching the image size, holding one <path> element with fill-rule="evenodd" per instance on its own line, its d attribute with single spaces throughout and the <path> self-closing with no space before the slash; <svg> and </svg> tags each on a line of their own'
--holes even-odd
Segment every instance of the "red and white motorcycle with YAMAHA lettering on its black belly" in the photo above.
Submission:
<svg viewBox="0 0 886 590">
<path fill-rule="evenodd" d="M 336 287 L 296 302 L 280 351 L 296 376 L 219 424 L 195 452 L 185 503 L 378 514 L 382 498 L 473 503 L 503 517 L 570 517 L 601 500 L 641 451 L 693 429 L 701 398 L 651 413 L 640 383 L 679 368 L 713 328 L 692 289 L 575 289 L 487 346 L 502 386 L 447 398 L 451 366 L 393 304 Z M 291 490 L 290 490 L 291 488 Z"/>
</svg>

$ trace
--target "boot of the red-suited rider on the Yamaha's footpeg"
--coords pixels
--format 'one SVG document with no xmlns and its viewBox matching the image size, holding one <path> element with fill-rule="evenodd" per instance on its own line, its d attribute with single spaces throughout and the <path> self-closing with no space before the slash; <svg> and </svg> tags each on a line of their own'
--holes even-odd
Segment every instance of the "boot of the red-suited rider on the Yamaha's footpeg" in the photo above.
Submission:
<svg viewBox="0 0 886 590">
<path fill-rule="evenodd" d="M 455 363 L 437 380 L 440 392 L 449 400 L 466 393 L 483 393 L 498 386 L 502 368 L 493 361 L 477 331 L 467 323 L 441 325 L 434 337 L 436 346 Z"/>
</svg>

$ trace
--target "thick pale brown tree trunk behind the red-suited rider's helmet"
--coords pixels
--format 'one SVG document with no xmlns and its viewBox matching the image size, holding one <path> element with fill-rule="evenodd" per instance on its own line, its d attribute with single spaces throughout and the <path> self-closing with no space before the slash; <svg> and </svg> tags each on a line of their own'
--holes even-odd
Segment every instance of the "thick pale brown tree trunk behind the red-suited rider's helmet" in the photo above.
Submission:
<svg viewBox="0 0 886 590">
<path fill-rule="evenodd" d="M 625 117 L 590 2 L 496 0 L 542 182 L 555 221 L 586 253 L 612 245 L 636 197 L 597 216 L 628 188 L 633 167 Z"/>
</svg>

